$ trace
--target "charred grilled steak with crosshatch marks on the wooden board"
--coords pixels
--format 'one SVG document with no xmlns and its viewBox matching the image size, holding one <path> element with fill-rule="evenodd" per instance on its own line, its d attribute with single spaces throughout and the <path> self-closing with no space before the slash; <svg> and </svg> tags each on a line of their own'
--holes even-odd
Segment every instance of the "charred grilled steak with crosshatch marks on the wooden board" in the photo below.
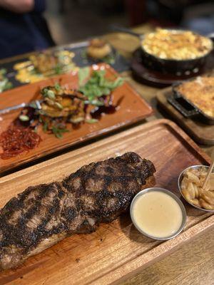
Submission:
<svg viewBox="0 0 214 285">
<path fill-rule="evenodd" d="M 61 182 L 28 187 L 0 211 L 0 269 L 113 221 L 137 192 L 154 185 L 155 171 L 151 161 L 127 152 L 83 166 Z"/>
</svg>

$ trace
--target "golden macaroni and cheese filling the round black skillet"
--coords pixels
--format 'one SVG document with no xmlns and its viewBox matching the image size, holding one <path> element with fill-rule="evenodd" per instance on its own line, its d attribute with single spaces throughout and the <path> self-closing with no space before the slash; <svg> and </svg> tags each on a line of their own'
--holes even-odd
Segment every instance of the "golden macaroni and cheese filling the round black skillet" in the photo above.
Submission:
<svg viewBox="0 0 214 285">
<path fill-rule="evenodd" d="M 141 45 L 153 56 L 174 60 L 200 58 L 213 48 L 210 38 L 198 33 L 164 28 L 157 28 L 154 33 L 146 34 Z"/>
</svg>

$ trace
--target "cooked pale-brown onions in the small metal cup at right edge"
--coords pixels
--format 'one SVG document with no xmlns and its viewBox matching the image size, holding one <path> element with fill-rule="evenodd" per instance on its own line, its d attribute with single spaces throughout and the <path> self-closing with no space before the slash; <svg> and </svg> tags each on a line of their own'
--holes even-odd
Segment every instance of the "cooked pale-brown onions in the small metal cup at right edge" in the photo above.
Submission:
<svg viewBox="0 0 214 285">
<path fill-rule="evenodd" d="M 190 168 L 183 174 L 181 181 L 181 192 L 185 199 L 195 206 L 204 209 L 214 210 L 214 174 L 208 181 L 205 189 L 203 189 L 203 182 L 207 175 L 207 169 L 201 167 L 200 169 Z"/>
</svg>

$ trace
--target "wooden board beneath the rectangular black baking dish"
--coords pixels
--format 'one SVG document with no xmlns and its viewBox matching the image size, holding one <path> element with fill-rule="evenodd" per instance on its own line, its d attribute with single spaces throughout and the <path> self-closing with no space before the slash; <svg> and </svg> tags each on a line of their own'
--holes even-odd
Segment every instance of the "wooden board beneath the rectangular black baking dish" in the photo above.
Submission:
<svg viewBox="0 0 214 285">
<path fill-rule="evenodd" d="M 214 145 L 214 125 L 206 125 L 198 120 L 194 120 L 194 118 L 185 118 L 168 103 L 167 99 L 170 95 L 172 95 L 171 87 L 158 91 L 156 98 L 161 108 L 163 108 L 195 142 L 202 145 Z"/>
</svg>

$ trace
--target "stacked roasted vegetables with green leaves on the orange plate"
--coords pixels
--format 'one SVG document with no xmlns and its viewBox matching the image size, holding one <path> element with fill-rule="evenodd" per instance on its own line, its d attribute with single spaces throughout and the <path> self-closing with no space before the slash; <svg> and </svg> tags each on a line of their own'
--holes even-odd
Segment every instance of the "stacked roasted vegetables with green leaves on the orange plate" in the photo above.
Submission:
<svg viewBox="0 0 214 285">
<path fill-rule="evenodd" d="M 121 86 L 122 78 L 108 80 L 104 70 L 93 71 L 90 76 L 90 68 L 81 68 L 78 83 L 78 90 L 64 88 L 59 83 L 41 90 L 41 108 L 38 110 L 35 106 L 35 113 L 45 133 L 54 133 L 56 138 L 62 138 L 63 133 L 68 132 L 68 123 L 96 123 L 96 113 L 102 115 L 116 110 L 111 93 Z M 26 122 L 30 120 L 27 117 L 28 114 L 22 113 L 19 120 Z"/>
</svg>

